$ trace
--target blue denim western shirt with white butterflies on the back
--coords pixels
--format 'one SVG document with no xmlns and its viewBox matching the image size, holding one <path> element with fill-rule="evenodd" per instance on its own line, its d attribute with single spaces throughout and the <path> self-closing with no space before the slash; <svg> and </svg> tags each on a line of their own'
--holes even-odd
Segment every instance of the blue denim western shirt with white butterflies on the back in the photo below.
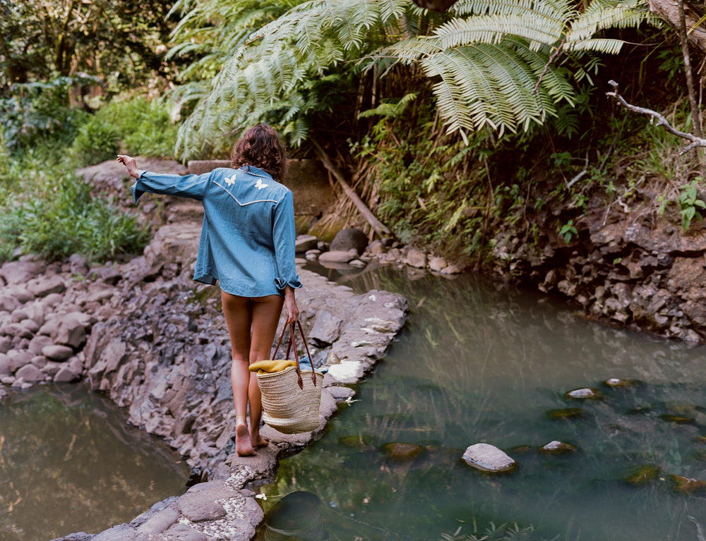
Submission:
<svg viewBox="0 0 706 541">
<path fill-rule="evenodd" d="M 241 297 L 284 296 L 301 287 L 294 262 L 292 191 L 253 166 L 201 175 L 139 171 L 137 204 L 145 192 L 201 201 L 203 225 L 193 279 Z"/>
</svg>

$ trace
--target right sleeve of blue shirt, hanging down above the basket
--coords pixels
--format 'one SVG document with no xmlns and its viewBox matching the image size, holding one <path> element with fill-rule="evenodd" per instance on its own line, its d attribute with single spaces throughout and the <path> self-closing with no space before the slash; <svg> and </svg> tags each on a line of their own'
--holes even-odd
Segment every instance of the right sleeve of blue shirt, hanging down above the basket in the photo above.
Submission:
<svg viewBox="0 0 706 541">
<path fill-rule="evenodd" d="M 285 197 L 275 206 L 273 219 L 273 241 L 275 243 L 275 260 L 277 262 L 277 276 L 275 286 L 284 289 L 286 286 L 300 288 L 301 282 L 297 274 L 296 240 L 297 232 L 294 224 L 294 197 L 287 190 Z"/>
</svg>

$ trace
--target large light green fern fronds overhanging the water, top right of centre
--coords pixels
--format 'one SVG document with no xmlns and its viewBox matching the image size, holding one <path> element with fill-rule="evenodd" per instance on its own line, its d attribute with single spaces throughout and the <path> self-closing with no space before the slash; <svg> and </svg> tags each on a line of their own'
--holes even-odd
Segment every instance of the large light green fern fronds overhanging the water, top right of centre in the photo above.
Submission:
<svg viewBox="0 0 706 541">
<path fill-rule="evenodd" d="M 571 74 L 554 56 L 618 53 L 623 42 L 599 32 L 640 24 L 639 7 L 640 0 L 594 0 L 584 11 L 573 0 L 461 0 L 432 35 L 397 42 L 373 60 L 419 61 L 440 77 L 434 92 L 450 131 L 527 129 L 573 101 Z"/>
</svg>

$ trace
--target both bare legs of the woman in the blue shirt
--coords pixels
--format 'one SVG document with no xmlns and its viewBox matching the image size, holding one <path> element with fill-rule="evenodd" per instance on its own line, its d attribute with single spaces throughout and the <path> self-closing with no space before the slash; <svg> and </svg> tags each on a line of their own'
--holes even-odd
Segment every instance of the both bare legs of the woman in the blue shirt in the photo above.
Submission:
<svg viewBox="0 0 706 541">
<path fill-rule="evenodd" d="M 221 292 L 232 349 L 231 384 L 235 403 L 235 447 L 240 456 L 255 454 L 253 446 L 267 445 L 260 437 L 262 400 L 257 377 L 249 364 L 270 357 L 283 300 L 279 295 L 260 298 Z M 251 336 L 252 329 L 252 336 Z M 250 430 L 247 424 L 250 405 Z"/>
</svg>

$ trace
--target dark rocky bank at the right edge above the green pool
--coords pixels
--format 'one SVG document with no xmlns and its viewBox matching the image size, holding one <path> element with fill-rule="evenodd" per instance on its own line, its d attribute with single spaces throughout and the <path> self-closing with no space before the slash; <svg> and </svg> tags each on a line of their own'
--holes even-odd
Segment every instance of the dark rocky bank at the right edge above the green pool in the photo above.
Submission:
<svg viewBox="0 0 706 541">
<path fill-rule="evenodd" d="M 593 197 L 582 212 L 548 205 L 519 233 L 496 233 L 492 272 L 565 298 L 587 317 L 705 343 L 706 228 L 693 220 L 683 231 L 678 213 L 660 214 L 646 188 L 631 195 L 630 205 Z"/>
</svg>

